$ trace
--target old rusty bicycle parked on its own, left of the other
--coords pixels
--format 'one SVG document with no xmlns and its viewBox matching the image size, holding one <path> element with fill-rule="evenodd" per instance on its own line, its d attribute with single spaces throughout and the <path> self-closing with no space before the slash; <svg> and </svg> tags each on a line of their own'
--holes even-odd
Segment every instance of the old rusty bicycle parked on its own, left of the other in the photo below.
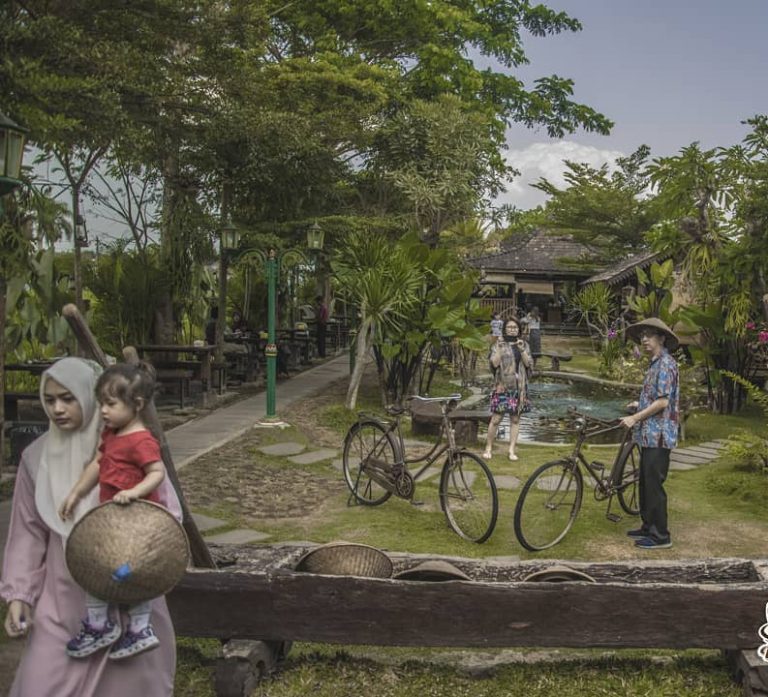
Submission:
<svg viewBox="0 0 768 697">
<path fill-rule="evenodd" d="M 392 494 L 412 500 L 416 480 L 445 455 L 439 492 L 448 525 L 465 540 L 485 542 L 496 526 L 499 498 L 488 465 L 474 453 L 456 446 L 448 415 L 461 395 L 411 399 L 440 404 L 440 438 L 426 455 L 407 459 L 400 429 L 404 408 L 389 407 L 386 411 L 393 417 L 391 421 L 360 414 L 344 439 L 343 470 L 352 492 L 350 499 L 366 506 L 378 506 Z M 412 474 L 408 466 L 420 462 L 424 466 Z"/>
</svg>

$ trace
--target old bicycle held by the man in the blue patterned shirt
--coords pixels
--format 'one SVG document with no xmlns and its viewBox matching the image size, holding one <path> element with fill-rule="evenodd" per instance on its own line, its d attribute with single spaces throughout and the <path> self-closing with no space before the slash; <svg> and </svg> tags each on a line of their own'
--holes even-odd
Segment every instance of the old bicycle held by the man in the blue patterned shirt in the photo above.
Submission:
<svg viewBox="0 0 768 697">
<path fill-rule="evenodd" d="M 572 412 L 576 423 L 576 445 L 567 457 L 539 467 L 523 486 L 515 506 L 515 535 L 532 552 L 553 547 L 573 527 L 584 494 L 584 475 L 594 481 L 596 501 L 608 501 L 606 517 L 618 522 L 621 515 L 611 511 L 614 496 L 627 515 L 638 515 L 638 480 L 640 448 L 625 429 L 613 465 L 587 462 L 581 449 L 589 438 L 624 428 L 621 421 L 604 421 L 587 414 Z"/>
</svg>

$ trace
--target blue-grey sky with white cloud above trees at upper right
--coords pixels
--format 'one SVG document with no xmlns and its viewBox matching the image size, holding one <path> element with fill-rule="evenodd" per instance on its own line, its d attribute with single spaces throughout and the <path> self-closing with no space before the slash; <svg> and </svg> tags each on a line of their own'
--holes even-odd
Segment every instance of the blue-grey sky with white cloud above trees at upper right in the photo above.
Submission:
<svg viewBox="0 0 768 697">
<path fill-rule="evenodd" d="M 514 126 L 506 158 L 521 171 L 499 201 L 543 203 L 530 183 L 563 185 L 563 159 L 599 166 L 642 144 L 652 157 L 741 141 L 746 118 L 768 113 L 768 0 L 544 0 L 583 25 L 580 32 L 526 36 L 526 85 L 571 78 L 573 99 L 615 122 L 609 136 L 576 131 L 551 139 Z"/>
</svg>

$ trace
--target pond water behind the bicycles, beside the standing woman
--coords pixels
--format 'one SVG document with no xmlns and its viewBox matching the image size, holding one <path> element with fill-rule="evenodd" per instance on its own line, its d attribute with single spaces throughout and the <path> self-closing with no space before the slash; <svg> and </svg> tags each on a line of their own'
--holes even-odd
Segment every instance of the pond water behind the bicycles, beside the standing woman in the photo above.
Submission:
<svg viewBox="0 0 768 697">
<path fill-rule="evenodd" d="M 626 415 L 625 406 L 637 398 L 635 390 L 627 391 L 607 385 L 587 382 L 549 382 L 534 380 L 528 385 L 528 394 L 533 409 L 520 419 L 522 443 L 538 441 L 543 443 L 571 443 L 575 439 L 573 420 L 568 410 L 573 408 L 600 419 L 617 419 Z M 475 408 L 488 408 L 488 399 Z M 619 443 L 624 437 L 623 429 L 617 429 L 598 438 L 593 443 Z M 509 440 L 509 419 L 501 422 L 500 440 Z"/>
</svg>

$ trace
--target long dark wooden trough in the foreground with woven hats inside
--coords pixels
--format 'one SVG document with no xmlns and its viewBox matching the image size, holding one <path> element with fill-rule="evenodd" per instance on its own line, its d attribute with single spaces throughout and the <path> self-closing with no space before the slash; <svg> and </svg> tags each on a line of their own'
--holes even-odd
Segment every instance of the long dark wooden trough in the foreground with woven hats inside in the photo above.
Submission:
<svg viewBox="0 0 768 697">
<path fill-rule="evenodd" d="M 312 546 L 212 546 L 230 566 L 189 571 L 169 594 L 179 635 L 265 642 L 250 652 L 264 668 L 281 642 L 379 646 L 714 648 L 742 672 L 754 660 L 768 602 L 768 563 L 746 559 L 562 562 L 389 553 L 394 574 L 447 561 L 470 580 L 407 581 L 295 571 Z M 567 565 L 594 582 L 533 582 Z M 344 598 L 344 611 L 338 599 Z M 444 608 L 435 612 L 434 608 Z M 271 647 L 271 648 L 270 648 Z M 231 652 L 230 652 L 231 653 Z M 248 650 L 241 647 L 240 660 Z M 745 657 L 744 661 L 740 659 Z M 230 656 L 224 660 L 234 660 Z M 243 668 L 243 664 L 240 664 Z M 245 671 L 247 672 L 247 671 Z M 230 684 L 225 694 L 236 692 Z M 759 692 L 745 692 L 758 695 Z"/>
</svg>

